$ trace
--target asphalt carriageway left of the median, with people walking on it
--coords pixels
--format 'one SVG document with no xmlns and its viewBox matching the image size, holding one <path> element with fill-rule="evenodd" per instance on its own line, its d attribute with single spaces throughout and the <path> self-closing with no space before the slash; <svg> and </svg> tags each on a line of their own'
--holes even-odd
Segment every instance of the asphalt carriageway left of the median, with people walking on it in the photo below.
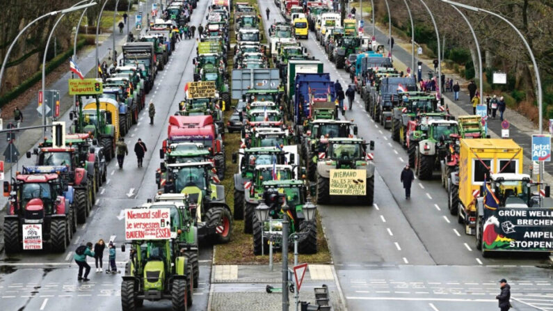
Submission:
<svg viewBox="0 0 553 311">
<path fill-rule="evenodd" d="M 198 3 L 192 15 L 192 24 L 205 18 L 208 1 Z M 184 83 L 191 80 L 195 55 L 195 40 L 177 44 L 177 50 L 163 72 L 159 72 L 155 86 L 147 95 L 156 104 L 154 125 L 149 125 L 147 109 L 141 112 L 140 122 L 129 130 L 125 141 L 132 150 L 138 138 L 148 148 L 143 168 L 136 167 L 134 154 L 129 153 L 122 170 L 111 161 L 107 182 L 101 187 L 92 215 L 79 225 L 67 253 L 25 252 L 0 257 L 0 305 L 3 310 L 120 310 L 120 275 L 90 272 L 90 282 L 77 282 L 77 265 L 72 261 L 73 251 L 79 244 L 95 243 L 102 238 L 115 239 L 118 246 L 118 268 L 124 269 L 128 260 L 120 244 L 124 241 L 122 209 L 141 205 L 152 198 L 157 189 L 154 172 L 159 167 L 159 148 L 166 135 L 169 115 L 178 109 L 184 96 Z M 68 113 L 61 120 L 69 122 Z M 31 165 L 35 159 L 22 159 L 19 165 Z M 200 248 L 200 287 L 193 295 L 189 310 L 206 310 L 211 275 L 211 246 Z M 104 261 L 106 261 L 104 256 Z M 88 260 L 89 263 L 93 260 Z M 106 262 L 104 262 L 106 264 Z M 61 306 L 63 305 L 63 308 Z M 170 307 L 170 301 L 145 302 L 148 310 Z M 90 306 L 90 307 L 83 307 Z"/>
</svg>

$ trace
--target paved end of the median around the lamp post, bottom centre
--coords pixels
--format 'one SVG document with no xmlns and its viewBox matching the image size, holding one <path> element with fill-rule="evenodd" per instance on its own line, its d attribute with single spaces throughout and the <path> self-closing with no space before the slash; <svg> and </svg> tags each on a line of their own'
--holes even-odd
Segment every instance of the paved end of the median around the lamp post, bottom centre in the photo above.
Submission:
<svg viewBox="0 0 553 311">
<path fill-rule="evenodd" d="M 314 288 L 328 285 L 332 310 L 345 310 L 341 289 L 335 278 L 334 266 L 310 264 L 300 287 L 300 301 L 315 304 Z M 282 310 L 282 294 L 267 293 L 266 285 L 282 285 L 282 265 L 275 264 L 273 271 L 267 265 L 214 265 L 211 272 L 211 291 L 208 311 L 271 311 Z M 290 310 L 294 308 L 294 294 L 289 293 Z"/>
</svg>

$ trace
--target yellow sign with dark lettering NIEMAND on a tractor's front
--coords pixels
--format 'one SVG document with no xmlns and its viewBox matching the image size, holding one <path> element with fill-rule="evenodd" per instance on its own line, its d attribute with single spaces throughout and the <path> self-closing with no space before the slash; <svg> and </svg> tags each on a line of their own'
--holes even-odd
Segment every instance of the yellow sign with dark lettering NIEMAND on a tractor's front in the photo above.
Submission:
<svg viewBox="0 0 553 311">
<path fill-rule="evenodd" d="M 330 196 L 366 196 L 366 170 L 330 170 Z"/>
</svg>

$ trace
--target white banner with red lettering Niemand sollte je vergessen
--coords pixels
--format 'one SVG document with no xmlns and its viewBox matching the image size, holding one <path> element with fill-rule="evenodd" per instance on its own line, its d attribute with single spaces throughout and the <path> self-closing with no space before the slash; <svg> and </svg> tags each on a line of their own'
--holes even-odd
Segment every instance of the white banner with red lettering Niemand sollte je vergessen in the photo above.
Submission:
<svg viewBox="0 0 553 311">
<path fill-rule="evenodd" d="M 169 209 L 125 209 L 125 239 L 170 239 Z"/>
</svg>

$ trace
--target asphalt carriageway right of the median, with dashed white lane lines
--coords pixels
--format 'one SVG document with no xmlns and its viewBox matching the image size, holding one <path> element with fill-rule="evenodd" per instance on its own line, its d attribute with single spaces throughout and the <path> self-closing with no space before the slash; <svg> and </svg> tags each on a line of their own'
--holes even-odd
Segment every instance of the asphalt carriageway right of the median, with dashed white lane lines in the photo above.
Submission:
<svg viewBox="0 0 553 311">
<path fill-rule="evenodd" d="M 273 1 L 259 1 L 259 10 L 266 8 L 271 10 L 269 20 L 284 20 Z M 385 42 L 382 33 L 377 40 Z M 348 85 L 348 74 L 328 61 L 314 33 L 301 42 L 311 56 L 325 62 L 332 81 Z M 401 61 L 409 63 L 410 56 L 404 57 Z M 532 295 L 538 296 L 534 303 L 543 303 L 540 307 L 553 308 L 553 273 L 539 267 L 548 258 L 483 258 L 474 237 L 449 214 L 438 176 L 415 180 L 412 199 L 405 200 L 399 175 L 408 159 L 406 150 L 369 118 L 359 97 L 345 117 L 358 124 L 358 136 L 375 141 L 377 170 L 372 207 L 355 202 L 318 206 L 348 310 L 492 310 L 501 278 L 513 282 L 513 297 L 522 301 L 513 302 L 519 310 L 537 310 L 525 304 L 532 304 Z"/>
</svg>

